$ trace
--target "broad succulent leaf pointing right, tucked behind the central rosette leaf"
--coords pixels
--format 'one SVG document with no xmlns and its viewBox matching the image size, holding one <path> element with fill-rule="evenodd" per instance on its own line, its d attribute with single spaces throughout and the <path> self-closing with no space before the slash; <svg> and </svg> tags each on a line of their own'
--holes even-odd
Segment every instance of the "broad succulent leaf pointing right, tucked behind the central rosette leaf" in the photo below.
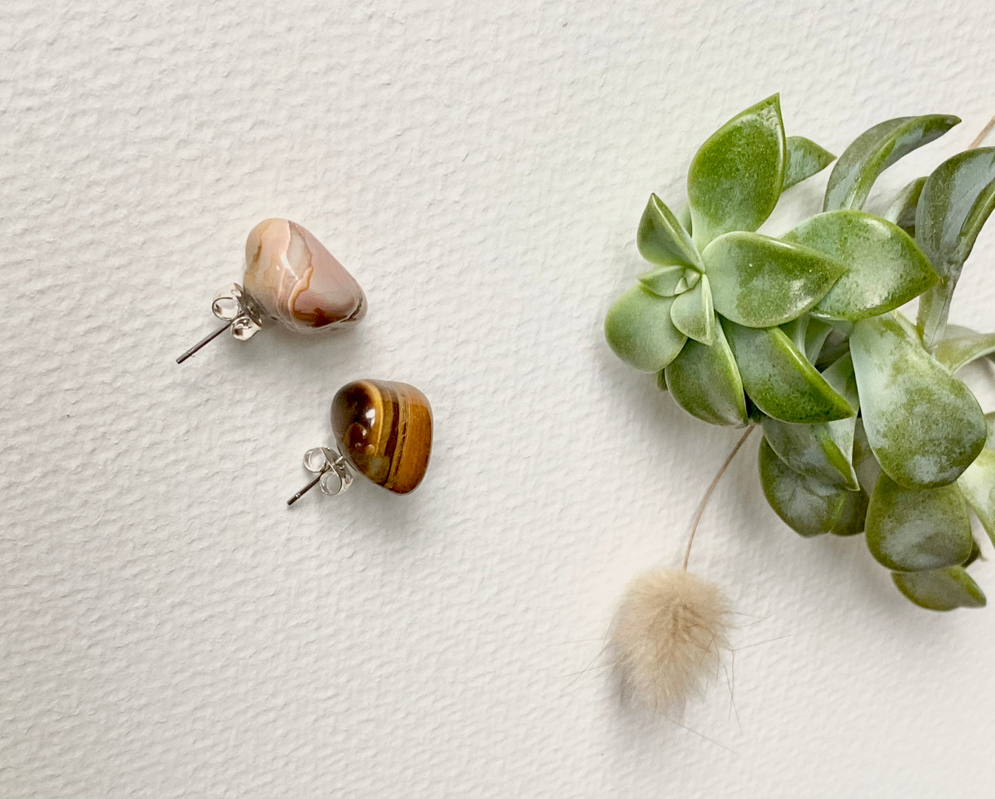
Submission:
<svg viewBox="0 0 995 799">
<path fill-rule="evenodd" d="M 856 321 L 918 297 L 938 278 L 901 228 L 864 211 L 829 211 L 784 237 L 846 265 L 812 315 Z"/>
</svg>

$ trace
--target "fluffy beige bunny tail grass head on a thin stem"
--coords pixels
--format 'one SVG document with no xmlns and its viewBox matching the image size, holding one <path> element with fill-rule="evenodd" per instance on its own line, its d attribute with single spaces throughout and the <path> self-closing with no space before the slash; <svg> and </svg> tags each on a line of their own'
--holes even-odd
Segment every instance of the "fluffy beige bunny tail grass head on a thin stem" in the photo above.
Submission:
<svg viewBox="0 0 995 799">
<path fill-rule="evenodd" d="M 728 614 L 718 586 L 687 571 L 636 577 L 609 634 L 623 697 L 680 713 L 717 674 Z"/>
</svg>

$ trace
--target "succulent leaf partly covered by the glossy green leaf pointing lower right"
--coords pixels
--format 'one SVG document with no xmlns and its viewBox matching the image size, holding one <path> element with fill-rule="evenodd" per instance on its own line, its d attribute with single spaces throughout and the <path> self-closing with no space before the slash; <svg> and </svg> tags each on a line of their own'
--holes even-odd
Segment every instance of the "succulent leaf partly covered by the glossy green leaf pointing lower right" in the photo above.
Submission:
<svg viewBox="0 0 995 799">
<path fill-rule="evenodd" d="M 857 382 L 849 355 L 826 369 L 823 377 L 854 408 L 857 407 Z M 856 416 L 816 425 L 790 424 L 767 418 L 763 420 L 763 434 L 778 457 L 795 472 L 827 486 L 856 492 L 860 489 L 853 467 L 856 423 Z"/>
</svg>

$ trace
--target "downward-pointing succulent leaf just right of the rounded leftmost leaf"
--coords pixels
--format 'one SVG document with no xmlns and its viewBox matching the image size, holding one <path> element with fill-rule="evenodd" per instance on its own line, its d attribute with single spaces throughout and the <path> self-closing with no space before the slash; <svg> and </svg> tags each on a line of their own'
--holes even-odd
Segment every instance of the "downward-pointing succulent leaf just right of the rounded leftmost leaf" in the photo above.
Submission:
<svg viewBox="0 0 995 799">
<path fill-rule="evenodd" d="M 711 346 L 694 339 L 667 367 L 667 387 L 675 401 L 692 416 L 711 425 L 746 424 L 746 399 L 736 361 L 721 325 L 714 323 Z"/>
</svg>

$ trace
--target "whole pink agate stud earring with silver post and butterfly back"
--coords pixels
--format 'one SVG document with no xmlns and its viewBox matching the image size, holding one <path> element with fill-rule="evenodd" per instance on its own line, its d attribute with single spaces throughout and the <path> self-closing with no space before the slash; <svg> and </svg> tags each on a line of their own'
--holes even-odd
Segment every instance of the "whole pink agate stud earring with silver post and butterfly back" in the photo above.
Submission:
<svg viewBox="0 0 995 799">
<path fill-rule="evenodd" d="M 225 323 L 180 355 L 182 363 L 225 330 L 248 341 L 264 317 L 299 333 L 344 327 L 366 313 L 355 279 L 311 233 L 288 219 L 267 219 L 246 240 L 246 274 L 214 297 L 211 310 Z"/>
</svg>

